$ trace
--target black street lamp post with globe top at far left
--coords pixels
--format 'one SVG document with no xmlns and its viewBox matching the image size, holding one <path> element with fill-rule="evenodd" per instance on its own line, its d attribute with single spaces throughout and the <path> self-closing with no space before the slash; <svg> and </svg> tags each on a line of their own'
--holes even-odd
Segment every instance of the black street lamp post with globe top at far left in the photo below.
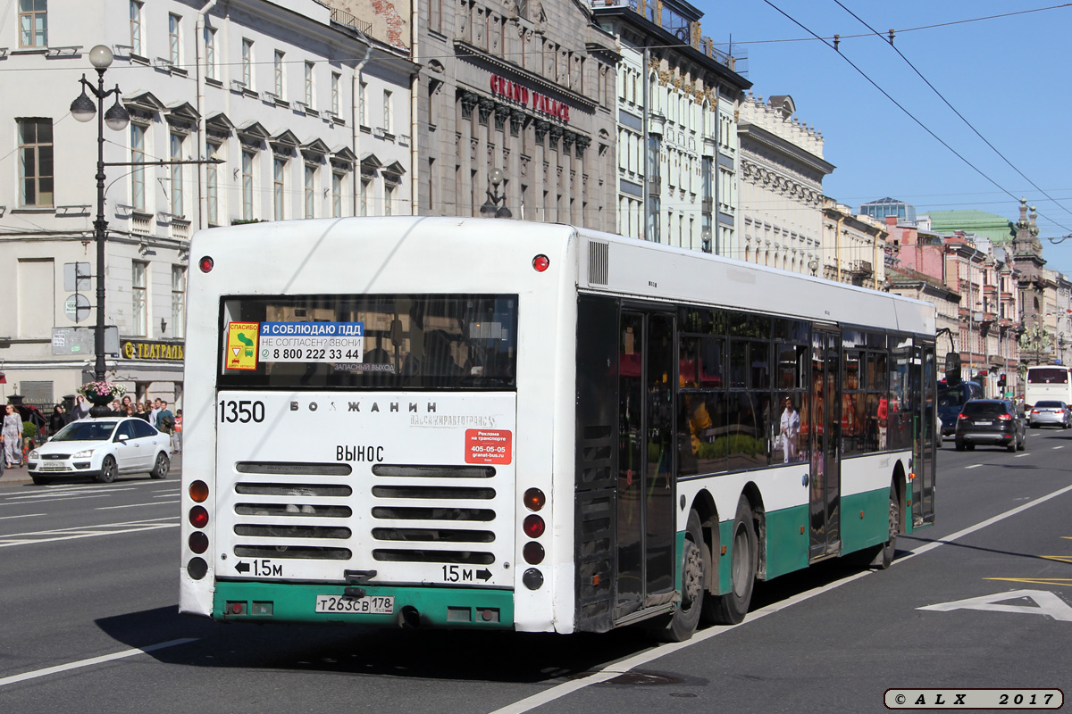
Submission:
<svg viewBox="0 0 1072 714">
<path fill-rule="evenodd" d="M 93 367 L 94 378 L 103 381 L 105 376 L 104 361 L 104 241 L 108 222 L 104 218 L 104 125 L 116 132 L 126 128 L 130 113 L 119 103 L 119 86 L 115 89 L 104 89 L 104 73 L 111 66 L 111 50 L 104 45 L 96 45 L 89 50 L 89 62 L 96 70 L 98 80 L 92 82 L 81 76 L 81 94 L 71 103 L 71 116 L 80 122 L 88 122 L 96 116 L 96 221 L 93 222 L 93 236 L 96 240 L 96 326 L 93 331 L 93 350 L 96 352 L 96 363 Z M 96 97 L 96 105 L 86 94 L 86 90 Z M 116 103 L 104 111 L 104 100 L 116 95 Z"/>
</svg>

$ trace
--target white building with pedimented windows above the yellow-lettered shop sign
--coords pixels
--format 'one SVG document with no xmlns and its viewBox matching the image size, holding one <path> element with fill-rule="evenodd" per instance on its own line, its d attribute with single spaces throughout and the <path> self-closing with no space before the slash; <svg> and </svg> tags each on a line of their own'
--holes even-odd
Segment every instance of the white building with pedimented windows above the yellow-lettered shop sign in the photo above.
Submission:
<svg viewBox="0 0 1072 714">
<path fill-rule="evenodd" d="M 106 89 L 130 116 L 104 130 L 107 378 L 137 398 L 181 404 L 193 231 L 410 212 L 411 147 L 377 128 L 408 126 L 415 67 L 324 4 L 30 4 L 33 17 L 0 21 L 19 97 L 0 109 L 17 142 L 0 157 L 0 280 L 15 287 L 0 312 L 3 396 L 50 405 L 93 373 L 96 122 L 70 107 L 78 77 L 96 79 L 95 45 L 114 55 Z"/>
</svg>

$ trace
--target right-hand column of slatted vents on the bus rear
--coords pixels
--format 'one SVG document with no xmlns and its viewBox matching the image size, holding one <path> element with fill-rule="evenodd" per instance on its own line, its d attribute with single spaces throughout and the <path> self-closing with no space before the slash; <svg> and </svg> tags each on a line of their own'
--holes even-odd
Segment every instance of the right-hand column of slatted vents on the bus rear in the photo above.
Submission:
<svg viewBox="0 0 1072 714">
<path fill-rule="evenodd" d="M 372 557 L 381 562 L 489 565 L 495 562 L 481 544 L 493 543 L 495 489 L 488 478 L 490 466 L 393 466 L 377 464 L 372 473 L 383 478 L 372 487 L 376 521 L 372 537 L 379 547 Z M 444 478 L 435 485 L 405 484 L 403 478 Z M 480 478 L 463 485 L 458 478 Z M 414 503 L 420 500 L 420 505 Z M 430 548 L 429 544 L 447 545 Z"/>
</svg>

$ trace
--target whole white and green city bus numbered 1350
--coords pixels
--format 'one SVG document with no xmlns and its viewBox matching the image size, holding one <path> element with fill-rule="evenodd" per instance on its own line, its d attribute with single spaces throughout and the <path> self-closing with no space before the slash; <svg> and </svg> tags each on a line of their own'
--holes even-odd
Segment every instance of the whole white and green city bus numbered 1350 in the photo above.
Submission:
<svg viewBox="0 0 1072 714">
<path fill-rule="evenodd" d="M 934 520 L 927 303 L 527 222 L 191 250 L 183 612 L 682 640 Z"/>
</svg>

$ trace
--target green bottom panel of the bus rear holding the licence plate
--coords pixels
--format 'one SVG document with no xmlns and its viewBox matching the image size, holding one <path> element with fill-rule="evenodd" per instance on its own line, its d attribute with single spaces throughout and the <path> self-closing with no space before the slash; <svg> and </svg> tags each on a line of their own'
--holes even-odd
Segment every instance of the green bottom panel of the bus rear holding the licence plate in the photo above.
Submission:
<svg viewBox="0 0 1072 714">
<path fill-rule="evenodd" d="M 363 586 L 360 598 L 345 587 L 222 580 L 215 584 L 214 620 L 352 623 L 373 626 L 513 627 L 509 590 Z"/>
</svg>

